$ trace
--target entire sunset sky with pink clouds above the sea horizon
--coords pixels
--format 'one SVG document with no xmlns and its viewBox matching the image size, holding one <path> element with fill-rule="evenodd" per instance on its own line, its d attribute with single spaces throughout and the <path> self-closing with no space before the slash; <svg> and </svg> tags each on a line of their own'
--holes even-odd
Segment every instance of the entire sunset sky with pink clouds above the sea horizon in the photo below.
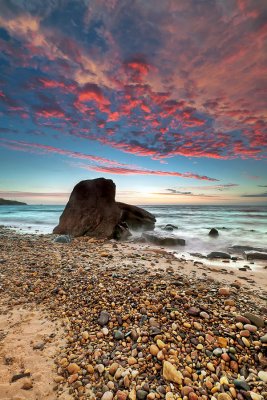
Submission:
<svg viewBox="0 0 267 400">
<path fill-rule="evenodd" d="M 266 0 L 0 0 L 0 197 L 267 204 Z"/>
</svg>

